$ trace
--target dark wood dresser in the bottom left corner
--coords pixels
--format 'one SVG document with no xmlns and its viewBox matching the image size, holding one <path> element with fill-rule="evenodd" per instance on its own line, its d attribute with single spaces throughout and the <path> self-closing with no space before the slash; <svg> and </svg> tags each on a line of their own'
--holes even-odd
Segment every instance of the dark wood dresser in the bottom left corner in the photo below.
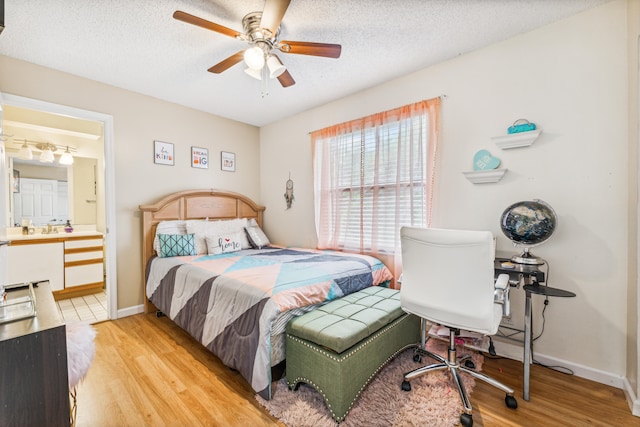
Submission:
<svg viewBox="0 0 640 427">
<path fill-rule="evenodd" d="M 65 325 L 47 282 L 36 316 L 0 324 L 0 426 L 69 426 Z"/>
</svg>

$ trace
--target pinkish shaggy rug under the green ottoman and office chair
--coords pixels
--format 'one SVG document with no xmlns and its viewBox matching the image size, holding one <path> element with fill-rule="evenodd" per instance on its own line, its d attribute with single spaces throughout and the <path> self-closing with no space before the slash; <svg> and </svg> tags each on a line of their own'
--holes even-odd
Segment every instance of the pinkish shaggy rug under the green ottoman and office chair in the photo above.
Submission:
<svg viewBox="0 0 640 427">
<path fill-rule="evenodd" d="M 431 339 L 427 349 L 433 353 L 446 354 L 447 343 Z M 466 350 L 458 348 L 458 355 Z M 482 367 L 482 355 L 471 352 L 477 369 Z M 422 363 L 413 361 L 413 349 L 405 350 L 385 366 L 369 383 L 347 414 L 341 427 L 360 426 L 451 426 L 459 424 L 462 403 L 455 384 L 447 370 L 431 372 L 411 381 L 411 391 L 402 391 L 403 375 L 423 364 L 435 363 L 423 357 Z M 470 394 L 475 380 L 461 375 Z M 298 391 L 287 387 L 286 379 L 274 384 L 271 400 L 256 395 L 258 402 L 267 411 L 289 427 L 335 427 L 325 402 L 314 388 L 301 384 Z"/>
</svg>

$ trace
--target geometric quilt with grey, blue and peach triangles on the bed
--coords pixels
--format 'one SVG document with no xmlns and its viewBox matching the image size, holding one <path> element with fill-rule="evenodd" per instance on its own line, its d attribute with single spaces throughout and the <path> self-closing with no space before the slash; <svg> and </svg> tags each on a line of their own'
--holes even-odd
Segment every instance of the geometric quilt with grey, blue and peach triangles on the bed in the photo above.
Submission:
<svg viewBox="0 0 640 427">
<path fill-rule="evenodd" d="M 299 248 L 153 258 L 151 302 L 271 398 L 271 334 L 282 313 L 384 283 L 376 258 Z"/>
</svg>

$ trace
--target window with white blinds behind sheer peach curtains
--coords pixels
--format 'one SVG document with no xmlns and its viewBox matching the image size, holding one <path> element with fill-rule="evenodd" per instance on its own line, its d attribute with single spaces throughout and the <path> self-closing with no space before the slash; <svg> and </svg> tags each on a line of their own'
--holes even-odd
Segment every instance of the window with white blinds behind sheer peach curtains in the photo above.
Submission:
<svg viewBox="0 0 640 427">
<path fill-rule="evenodd" d="M 403 225 L 426 227 L 440 99 L 312 133 L 318 247 L 399 252 Z"/>
</svg>

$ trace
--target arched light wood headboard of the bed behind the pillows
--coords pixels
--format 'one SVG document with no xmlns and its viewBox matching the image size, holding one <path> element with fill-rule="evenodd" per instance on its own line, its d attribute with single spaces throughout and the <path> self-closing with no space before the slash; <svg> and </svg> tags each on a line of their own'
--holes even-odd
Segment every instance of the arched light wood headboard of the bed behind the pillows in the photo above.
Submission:
<svg viewBox="0 0 640 427">
<path fill-rule="evenodd" d="M 262 227 L 264 206 L 242 194 L 222 190 L 185 190 L 169 194 L 151 205 L 140 205 L 142 212 L 142 284 L 146 289 L 147 263 L 155 254 L 153 239 L 160 221 L 175 219 L 254 218 Z M 146 292 L 145 313 L 148 312 Z"/>
</svg>

